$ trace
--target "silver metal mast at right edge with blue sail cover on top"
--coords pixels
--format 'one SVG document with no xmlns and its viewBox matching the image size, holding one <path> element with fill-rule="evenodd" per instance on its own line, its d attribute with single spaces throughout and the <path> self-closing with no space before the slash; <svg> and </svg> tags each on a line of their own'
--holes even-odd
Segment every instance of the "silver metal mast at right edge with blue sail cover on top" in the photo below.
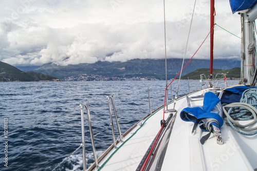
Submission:
<svg viewBox="0 0 257 171">
<path fill-rule="evenodd" d="M 233 13 L 241 15 L 241 80 L 240 84 L 256 86 L 257 55 L 256 55 L 256 26 L 257 2 L 231 0 L 230 7 Z"/>
</svg>

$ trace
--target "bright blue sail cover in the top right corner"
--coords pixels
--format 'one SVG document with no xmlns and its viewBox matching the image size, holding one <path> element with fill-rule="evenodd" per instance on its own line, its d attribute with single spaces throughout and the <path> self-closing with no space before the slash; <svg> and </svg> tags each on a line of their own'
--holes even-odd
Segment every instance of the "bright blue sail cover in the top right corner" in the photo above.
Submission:
<svg viewBox="0 0 257 171">
<path fill-rule="evenodd" d="M 229 0 L 233 13 L 252 8 L 257 0 Z"/>
</svg>

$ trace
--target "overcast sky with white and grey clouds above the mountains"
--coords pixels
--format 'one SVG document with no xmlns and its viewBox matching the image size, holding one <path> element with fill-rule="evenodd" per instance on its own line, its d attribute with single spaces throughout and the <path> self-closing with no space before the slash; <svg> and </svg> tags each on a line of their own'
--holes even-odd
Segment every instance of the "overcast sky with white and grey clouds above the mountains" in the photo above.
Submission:
<svg viewBox="0 0 257 171">
<path fill-rule="evenodd" d="M 183 58 L 194 1 L 166 0 L 167 58 Z M 241 36 L 240 15 L 216 0 L 216 23 Z M 209 33 L 210 0 L 198 0 L 186 58 Z M 1 0 L 0 61 L 40 66 L 164 59 L 163 0 Z M 240 59 L 240 39 L 215 27 L 214 58 Z M 195 58 L 209 59 L 209 40 Z"/>
</svg>

